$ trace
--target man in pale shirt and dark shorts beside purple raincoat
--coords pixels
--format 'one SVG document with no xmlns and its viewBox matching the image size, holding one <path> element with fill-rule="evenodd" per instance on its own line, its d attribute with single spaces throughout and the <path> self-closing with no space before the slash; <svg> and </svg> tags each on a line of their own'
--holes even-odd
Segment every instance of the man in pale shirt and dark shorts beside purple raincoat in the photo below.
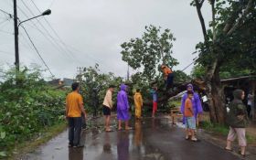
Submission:
<svg viewBox="0 0 256 160">
<path fill-rule="evenodd" d="M 112 92 L 114 86 L 110 85 L 109 90 L 106 92 L 103 101 L 103 115 L 105 116 L 105 131 L 111 132 L 110 122 L 111 122 L 111 110 L 112 110 Z"/>
</svg>

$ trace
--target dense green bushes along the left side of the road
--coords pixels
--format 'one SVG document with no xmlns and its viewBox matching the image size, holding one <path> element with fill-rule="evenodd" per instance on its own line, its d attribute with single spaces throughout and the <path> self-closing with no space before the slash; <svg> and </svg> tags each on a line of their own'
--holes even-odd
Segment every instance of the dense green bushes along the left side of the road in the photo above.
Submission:
<svg viewBox="0 0 256 160">
<path fill-rule="evenodd" d="M 28 140 L 63 115 L 65 91 L 51 89 L 38 69 L 11 69 L 0 85 L 0 151 Z M 17 81 L 17 82 L 16 82 Z"/>
</svg>

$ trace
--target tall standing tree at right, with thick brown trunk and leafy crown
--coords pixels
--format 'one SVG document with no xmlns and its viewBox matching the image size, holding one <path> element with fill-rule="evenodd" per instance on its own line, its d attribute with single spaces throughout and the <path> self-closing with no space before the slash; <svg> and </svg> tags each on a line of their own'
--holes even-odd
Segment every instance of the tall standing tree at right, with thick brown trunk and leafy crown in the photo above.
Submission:
<svg viewBox="0 0 256 160">
<path fill-rule="evenodd" d="M 210 106 L 210 119 L 213 123 L 225 122 L 224 95 L 219 72 L 231 64 L 247 63 L 244 68 L 253 70 L 255 59 L 255 0 L 208 0 L 211 6 L 212 21 L 207 29 L 201 12 L 205 0 L 193 0 L 200 20 L 204 42 L 197 45 L 197 62 L 206 67 L 206 84 Z M 254 25 L 253 25 L 254 24 Z M 255 56 L 253 56 L 255 57 Z M 235 67 L 234 65 L 232 67 Z M 255 65 L 254 65 L 255 69 Z"/>
</svg>

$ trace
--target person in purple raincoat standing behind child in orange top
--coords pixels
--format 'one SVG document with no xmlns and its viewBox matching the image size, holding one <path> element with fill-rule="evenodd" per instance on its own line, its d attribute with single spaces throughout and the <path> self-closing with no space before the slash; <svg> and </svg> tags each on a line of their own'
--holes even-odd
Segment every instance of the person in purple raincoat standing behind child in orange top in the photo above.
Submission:
<svg viewBox="0 0 256 160">
<path fill-rule="evenodd" d="M 199 98 L 198 94 L 194 91 L 192 84 L 187 85 L 187 91 L 192 91 L 194 93 L 194 97 L 192 98 L 192 105 L 193 105 L 194 116 L 195 116 L 195 119 L 196 119 L 196 122 L 197 122 L 198 113 L 203 112 L 202 104 L 201 104 L 201 101 L 200 101 L 200 98 Z M 185 101 L 186 100 L 187 100 L 187 93 L 185 93 L 183 95 L 182 100 L 181 100 L 180 111 L 183 113 L 183 115 L 184 115 L 184 111 L 185 111 Z M 185 117 L 183 117 L 183 123 L 185 123 L 184 118 Z"/>
</svg>

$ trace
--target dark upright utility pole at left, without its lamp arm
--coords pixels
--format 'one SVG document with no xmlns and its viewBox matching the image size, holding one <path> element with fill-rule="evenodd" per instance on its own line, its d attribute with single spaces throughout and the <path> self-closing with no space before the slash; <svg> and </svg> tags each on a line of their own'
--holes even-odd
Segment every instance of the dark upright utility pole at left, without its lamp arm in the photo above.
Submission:
<svg viewBox="0 0 256 160">
<path fill-rule="evenodd" d="M 16 15 L 16 0 L 14 0 L 14 22 L 15 22 L 15 50 L 16 50 L 16 71 L 19 71 L 19 54 L 18 54 L 18 27 L 17 27 L 17 15 Z"/>
</svg>

